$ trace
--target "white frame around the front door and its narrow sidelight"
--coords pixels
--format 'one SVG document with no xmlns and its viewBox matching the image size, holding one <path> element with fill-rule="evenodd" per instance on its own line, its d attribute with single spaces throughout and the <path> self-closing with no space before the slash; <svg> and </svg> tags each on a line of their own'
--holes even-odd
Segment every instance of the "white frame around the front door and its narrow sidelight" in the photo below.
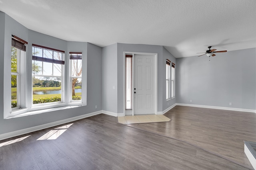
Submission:
<svg viewBox="0 0 256 170">
<path fill-rule="evenodd" d="M 123 98 L 124 98 L 124 103 L 123 103 L 123 108 L 124 108 L 124 115 L 126 115 L 126 109 L 125 109 L 125 55 L 132 55 L 132 115 L 134 115 L 134 55 L 152 55 L 154 56 L 154 59 L 155 59 L 155 114 L 157 114 L 157 106 L 158 106 L 158 96 L 157 96 L 157 93 L 158 93 L 158 86 L 157 86 L 157 80 L 158 80 L 158 76 L 157 76 L 157 70 L 158 70 L 158 67 L 157 67 L 157 61 L 158 61 L 158 56 L 157 56 L 157 53 L 140 53 L 140 52 L 129 52 L 129 51 L 124 51 L 124 76 L 123 76 L 123 83 L 124 83 L 124 86 L 123 86 Z"/>
</svg>

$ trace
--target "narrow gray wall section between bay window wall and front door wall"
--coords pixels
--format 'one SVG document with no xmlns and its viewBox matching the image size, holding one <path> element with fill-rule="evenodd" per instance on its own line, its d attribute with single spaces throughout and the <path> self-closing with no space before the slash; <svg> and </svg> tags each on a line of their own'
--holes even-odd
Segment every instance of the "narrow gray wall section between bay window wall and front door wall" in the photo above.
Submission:
<svg viewBox="0 0 256 170">
<path fill-rule="evenodd" d="M 117 112 L 117 44 L 102 48 L 102 109 Z M 113 89 L 115 86 L 115 89 Z M 122 113 L 122 112 L 121 112 Z"/>
</svg>

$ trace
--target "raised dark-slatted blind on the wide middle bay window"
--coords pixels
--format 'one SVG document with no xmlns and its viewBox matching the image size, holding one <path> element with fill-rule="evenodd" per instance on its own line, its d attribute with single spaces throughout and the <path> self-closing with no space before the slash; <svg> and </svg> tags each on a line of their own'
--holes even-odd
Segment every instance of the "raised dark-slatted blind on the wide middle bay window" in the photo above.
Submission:
<svg viewBox="0 0 256 170">
<path fill-rule="evenodd" d="M 32 60 L 65 64 L 65 51 L 32 44 Z"/>
</svg>

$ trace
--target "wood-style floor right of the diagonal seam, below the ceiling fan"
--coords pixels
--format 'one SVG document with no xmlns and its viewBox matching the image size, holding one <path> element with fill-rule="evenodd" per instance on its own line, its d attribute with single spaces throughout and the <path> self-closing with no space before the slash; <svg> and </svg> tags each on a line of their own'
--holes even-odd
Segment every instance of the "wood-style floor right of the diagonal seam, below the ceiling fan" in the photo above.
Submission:
<svg viewBox="0 0 256 170">
<path fill-rule="evenodd" d="M 256 141 L 255 113 L 175 106 L 164 115 L 172 121 L 128 126 L 184 141 L 253 169 L 244 141 Z"/>
</svg>

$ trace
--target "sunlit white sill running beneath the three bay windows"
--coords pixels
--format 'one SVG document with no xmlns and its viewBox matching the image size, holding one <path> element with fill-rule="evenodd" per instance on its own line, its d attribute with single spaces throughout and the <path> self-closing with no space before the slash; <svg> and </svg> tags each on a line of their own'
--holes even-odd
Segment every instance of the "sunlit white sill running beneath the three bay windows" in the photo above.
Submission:
<svg viewBox="0 0 256 170">
<path fill-rule="evenodd" d="M 10 116 L 10 117 L 8 117 L 8 119 L 15 118 L 15 117 L 27 116 L 27 115 L 46 113 L 46 112 L 50 112 L 50 111 L 57 111 L 57 110 L 62 110 L 62 109 L 70 109 L 70 108 L 75 108 L 75 107 L 81 107 L 81 106 L 62 106 L 62 107 L 54 107 L 54 108 L 34 110 L 34 111 L 27 111 L 28 109 L 19 109 L 19 112 L 21 112 L 21 111 L 26 111 L 26 112 L 18 114 L 18 115 Z M 16 113 L 16 111 L 14 113 Z"/>
</svg>

